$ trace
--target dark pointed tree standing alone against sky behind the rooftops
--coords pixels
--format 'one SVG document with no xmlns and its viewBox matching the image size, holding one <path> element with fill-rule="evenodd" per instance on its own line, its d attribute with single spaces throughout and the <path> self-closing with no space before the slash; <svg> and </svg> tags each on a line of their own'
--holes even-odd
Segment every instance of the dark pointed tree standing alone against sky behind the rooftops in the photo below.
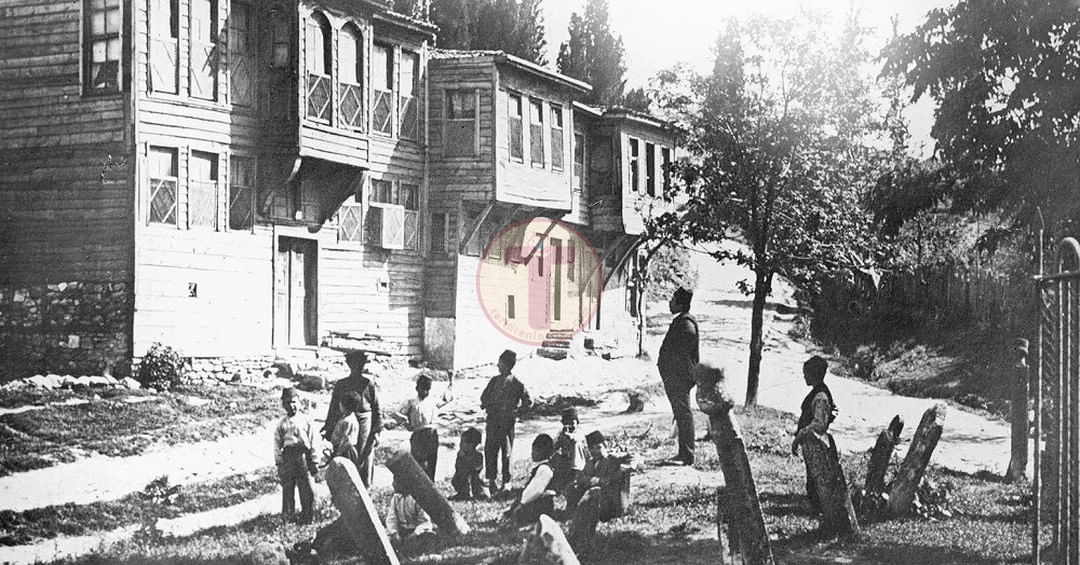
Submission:
<svg viewBox="0 0 1080 565">
<path fill-rule="evenodd" d="M 570 14 L 569 39 L 558 48 L 558 71 L 592 84 L 586 102 L 600 105 L 622 103 L 626 81 L 622 38 L 608 23 L 607 0 L 588 0 L 585 15 Z"/>
</svg>

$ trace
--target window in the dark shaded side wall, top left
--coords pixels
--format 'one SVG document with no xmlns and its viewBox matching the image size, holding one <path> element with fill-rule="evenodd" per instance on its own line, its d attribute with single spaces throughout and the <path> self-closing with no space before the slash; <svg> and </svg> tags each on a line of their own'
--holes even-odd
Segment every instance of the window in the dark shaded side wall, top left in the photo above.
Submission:
<svg viewBox="0 0 1080 565">
<path fill-rule="evenodd" d="M 119 92 L 123 51 L 120 0 L 90 0 L 85 13 L 86 42 L 82 56 L 86 92 Z"/>
</svg>

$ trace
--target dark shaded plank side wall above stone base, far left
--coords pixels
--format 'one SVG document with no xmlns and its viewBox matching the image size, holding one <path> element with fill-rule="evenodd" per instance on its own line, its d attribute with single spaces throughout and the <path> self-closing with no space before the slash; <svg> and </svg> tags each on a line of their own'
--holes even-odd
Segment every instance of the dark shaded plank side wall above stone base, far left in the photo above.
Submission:
<svg viewBox="0 0 1080 565">
<path fill-rule="evenodd" d="M 129 98 L 82 94 L 80 14 L 0 5 L 0 282 L 132 277 Z"/>
</svg>

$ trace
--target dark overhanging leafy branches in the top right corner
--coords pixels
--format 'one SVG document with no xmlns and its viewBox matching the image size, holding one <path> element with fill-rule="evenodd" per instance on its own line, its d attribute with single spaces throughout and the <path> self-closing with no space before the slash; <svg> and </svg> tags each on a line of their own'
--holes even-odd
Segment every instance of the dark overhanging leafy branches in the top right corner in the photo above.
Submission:
<svg viewBox="0 0 1080 565">
<path fill-rule="evenodd" d="M 954 208 L 1026 223 L 1039 206 L 1048 227 L 1077 227 L 1078 24 L 1059 0 L 961 0 L 887 46 L 883 73 L 937 103 L 931 134 Z"/>
</svg>

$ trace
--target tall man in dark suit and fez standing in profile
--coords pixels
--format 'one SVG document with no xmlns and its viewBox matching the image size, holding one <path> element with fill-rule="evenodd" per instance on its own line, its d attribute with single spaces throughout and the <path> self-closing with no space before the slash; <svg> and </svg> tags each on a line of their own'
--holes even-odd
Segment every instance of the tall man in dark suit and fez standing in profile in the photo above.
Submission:
<svg viewBox="0 0 1080 565">
<path fill-rule="evenodd" d="M 679 286 L 667 302 L 675 314 L 657 355 L 657 368 L 672 404 L 678 428 L 678 454 L 667 465 L 693 465 L 693 413 L 690 412 L 690 369 L 698 364 L 698 321 L 690 315 L 693 293 Z"/>
</svg>

